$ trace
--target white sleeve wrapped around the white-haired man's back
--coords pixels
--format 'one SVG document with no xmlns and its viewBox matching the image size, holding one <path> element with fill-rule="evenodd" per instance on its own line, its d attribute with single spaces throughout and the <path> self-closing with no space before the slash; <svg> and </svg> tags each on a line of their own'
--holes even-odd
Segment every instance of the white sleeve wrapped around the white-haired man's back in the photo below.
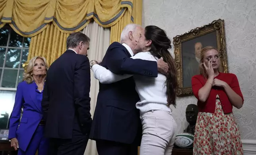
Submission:
<svg viewBox="0 0 256 155">
<path fill-rule="evenodd" d="M 128 77 L 133 76 L 129 74 L 114 74 L 110 70 L 107 70 L 107 68 L 100 66 L 99 64 L 94 64 L 91 69 L 93 71 L 94 77 L 98 79 L 100 83 L 103 84 L 114 83 L 116 81 L 120 81 L 122 79 L 126 79 Z"/>
</svg>

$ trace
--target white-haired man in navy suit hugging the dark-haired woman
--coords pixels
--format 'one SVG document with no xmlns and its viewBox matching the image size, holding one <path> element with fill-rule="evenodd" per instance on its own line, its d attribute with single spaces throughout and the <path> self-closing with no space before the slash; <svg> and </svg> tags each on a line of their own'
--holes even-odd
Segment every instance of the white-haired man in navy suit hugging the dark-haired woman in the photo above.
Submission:
<svg viewBox="0 0 256 155">
<path fill-rule="evenodd" d="M 138 74 L 157 77 L 167 73 L 168 64 L 159 59 L 147 61 L 131 59 L 137 40 L 142 37 L 140 25 L 127 25 L 120 42 L 107 49 L 101 65 L 115 74 Z M 90 67 L 98 62 L 92 60 Z M 140 100 L 132 77 L 111 84 L 99 84 L 99 94 L 89 138 L 96 140 L 99 155 L 138 155 L 142 138 L 140 113 L 136 103 Z"/>
</svg>

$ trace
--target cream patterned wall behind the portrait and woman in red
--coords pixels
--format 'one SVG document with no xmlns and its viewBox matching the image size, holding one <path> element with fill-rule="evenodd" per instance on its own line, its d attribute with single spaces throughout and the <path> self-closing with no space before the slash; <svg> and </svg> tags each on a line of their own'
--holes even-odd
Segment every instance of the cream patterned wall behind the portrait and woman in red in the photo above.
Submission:
<svg viewBox="0 0 256 155">
<path fill-rule="evenodd" d="M 176 35 L 224 19 L 229 72 L 237 75 L 244 106 L 233 110 L 241 138 L 256 141 L 256 1 L 255 0 L 144 0 L 143 26 L 156 25 L 173 40 Z M 173 53 L 173 49 L 171 50 Z M 185 109 L 194 96 L 177 100 L 173 115 L 178 132 L 186 126 Z"/>
</svg>

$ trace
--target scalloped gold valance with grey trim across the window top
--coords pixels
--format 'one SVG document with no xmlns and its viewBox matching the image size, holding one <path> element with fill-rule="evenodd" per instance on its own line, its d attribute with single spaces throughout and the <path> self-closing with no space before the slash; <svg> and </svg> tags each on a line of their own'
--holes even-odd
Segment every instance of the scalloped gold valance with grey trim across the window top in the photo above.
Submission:
<svg viewBox="0 0 256 155">
<path fill-rule="evenodd" d="M 82 30 L 90 19 L 111 27 L 126 11 L 130 12 L 129 20 L 134 21 L 135 1 L 138 0 L 0 0 L 0 28 L 8 23 L 21 36 L 32 37 L 51 22 L 66 34 Z"/>
</svg>

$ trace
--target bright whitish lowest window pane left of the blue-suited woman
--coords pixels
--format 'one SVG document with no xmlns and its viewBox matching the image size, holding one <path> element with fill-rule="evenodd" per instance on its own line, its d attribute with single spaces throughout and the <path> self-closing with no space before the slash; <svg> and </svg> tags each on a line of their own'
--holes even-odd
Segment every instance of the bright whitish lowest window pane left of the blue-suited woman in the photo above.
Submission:
<svg viewBox="0 0 256 155">
<path fill-rule="evenodd" d="M 8 120 L 14 107 L 16 91 L 0 91 L 0 129 L 8 128 Z"/>
</svg>

